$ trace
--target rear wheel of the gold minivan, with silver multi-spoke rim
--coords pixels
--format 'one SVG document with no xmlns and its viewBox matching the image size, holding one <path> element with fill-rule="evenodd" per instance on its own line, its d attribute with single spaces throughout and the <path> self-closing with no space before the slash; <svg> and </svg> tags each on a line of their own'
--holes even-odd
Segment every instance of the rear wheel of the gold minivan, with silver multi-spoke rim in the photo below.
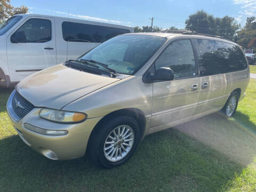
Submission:
<svg viewBox="0 0 256 192">
<path fill-rule="evenodd" d="M 229 98 L 222 108 L 222 113 L 225 115 L 226 118 L 232 118 L 236 112 L 236 108 L 238 105 L 239 94 L 234 91 L 229 95 Z"/>
</svg>

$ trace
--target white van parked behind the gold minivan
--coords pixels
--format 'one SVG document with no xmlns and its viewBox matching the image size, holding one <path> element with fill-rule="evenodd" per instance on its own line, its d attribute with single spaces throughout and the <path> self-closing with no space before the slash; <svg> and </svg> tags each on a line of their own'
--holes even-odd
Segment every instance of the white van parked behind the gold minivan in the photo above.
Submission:
<svg viewBox="0 0 256 192">
<path fill-rule="evenodd" d="M 0 86 L 76 59 L 132 27 L 37 14 L 17 14 L 0 26 Z"/>
</svg>

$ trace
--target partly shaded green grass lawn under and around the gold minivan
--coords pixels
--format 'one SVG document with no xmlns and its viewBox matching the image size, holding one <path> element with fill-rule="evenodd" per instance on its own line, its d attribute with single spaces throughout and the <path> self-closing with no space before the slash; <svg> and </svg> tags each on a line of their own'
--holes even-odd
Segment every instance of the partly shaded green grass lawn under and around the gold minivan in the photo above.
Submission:
<svg viewBox="0 0 256 192">
<path fill-rule="evenodd" d="M 254 67 L 254 66 L 253 66 Z M 256 79 L 233 119 L 212 114 L 148 135 L 125 165 L 52 161 L 26 146 L 0 90 L 0 191 L 255 191 Z"/>
</svg>

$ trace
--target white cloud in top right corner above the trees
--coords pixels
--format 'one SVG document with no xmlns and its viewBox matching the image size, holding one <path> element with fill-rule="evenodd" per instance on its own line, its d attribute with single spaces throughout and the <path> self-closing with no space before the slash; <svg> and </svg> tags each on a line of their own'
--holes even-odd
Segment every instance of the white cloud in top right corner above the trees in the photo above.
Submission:
<svg viewBox="0 0 256 192">
<path fill-rule="evenodd" d="M 256 0 L 233 0 L 234 4 L 241 5 L 242 11 L 239 11 L 239 15 L 236 18 L 238 22 L 245 25 L 246 18 L 256 15 Z"/>
</svg>

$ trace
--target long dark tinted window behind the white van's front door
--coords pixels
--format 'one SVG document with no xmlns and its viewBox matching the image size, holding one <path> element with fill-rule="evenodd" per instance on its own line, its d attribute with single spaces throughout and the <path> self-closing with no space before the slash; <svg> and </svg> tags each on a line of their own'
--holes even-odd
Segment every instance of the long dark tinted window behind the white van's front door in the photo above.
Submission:
<svg viewBox="0 0 256 192">
<path fill-rule="evenodd" d="M 63 39 L 71 42 L 102 43 L 125 33 L 130 33 L 130 30 L 67 21 L 62 23 Z"/>
</svg>

